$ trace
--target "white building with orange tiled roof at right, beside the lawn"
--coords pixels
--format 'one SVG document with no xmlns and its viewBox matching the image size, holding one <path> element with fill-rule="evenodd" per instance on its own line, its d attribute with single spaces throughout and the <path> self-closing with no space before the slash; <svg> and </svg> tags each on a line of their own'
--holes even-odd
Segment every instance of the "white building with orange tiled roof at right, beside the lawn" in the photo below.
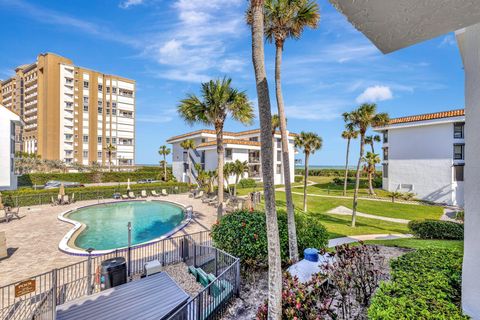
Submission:
<svg viewBox="0 0 480 320">
<path fill-rule="evenodd" d="M 383 133 L 383 188 L 463 206 L 463 109 L 391 119 Z"/>
</svg>

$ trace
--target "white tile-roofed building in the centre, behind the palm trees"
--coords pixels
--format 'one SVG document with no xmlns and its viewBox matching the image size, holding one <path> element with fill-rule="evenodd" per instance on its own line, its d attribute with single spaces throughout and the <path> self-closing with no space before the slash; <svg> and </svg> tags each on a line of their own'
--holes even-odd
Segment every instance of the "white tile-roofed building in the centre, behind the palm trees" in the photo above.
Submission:
<svg viewBox="0 0 480 320">
<path fill-rule="evenodd" d="M 289 133 L 289 157 L 290 157 L 290 177 L 294 178 L 294 137 L 295 134 Z M 184 140 L 192 139 L 195 143 L 194 150 L 183 149 L 180 143 Z M 273 139 L 275 184 L 284 183 L 282 167 L 282 146 L 280 133 L 276 133 Z M 188 182 L 190 176 L 195 180 L 197 172 L 195 164 L 200 164 L 203 170 L 216 170 L 217 144 L 216 135 L 213 130 L 198 130 L 179 136 L 171 137 L 167 140 L 172 144 L 172 168 L 173 175 L 178 181 Z M 243 178 L 252 178 L 262 181 L 262 166 L 260 162 L 260 130 L 249 130 L 243 132 L 224 132 L 225 163 L 235 160 L 247 161 L 248 172 Z M 189 168 L 189 164 L 192 164 Z M 191 172 L 190 172 L 191 171 Z M 227 178 L 226 178 L 227 179 Z M 196 183 L 196 181 L 192 181 Z M 235 177 L 228 177 L 229 183 L 235 182 Z"/>
</svg>

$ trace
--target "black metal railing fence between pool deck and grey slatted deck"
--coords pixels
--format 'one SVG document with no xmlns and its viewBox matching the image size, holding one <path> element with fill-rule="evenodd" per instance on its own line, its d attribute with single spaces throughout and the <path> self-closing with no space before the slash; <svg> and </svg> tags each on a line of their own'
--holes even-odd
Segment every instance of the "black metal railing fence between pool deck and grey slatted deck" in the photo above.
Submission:
<svg viewBox="0 0 480 320">
<path fill-rule="evenodd" d="M 224 305 L 240 288 L 239 259 L 213 248 L 210 231 L 202 231 L 130 249 L 115 250 L 104 255 L 90 255 L 78 263 L 0 287 L 0 319 L 54 319 L 57 305 L 101 290 L 99 281 L 101 263 L 114 257 L 126 259 L 130 281 L 139 279 L 144 273 L 145 263 L 152 260 L 160 261 L 163 266 L 184 262 L 187 265 L 202 267 L 207 273 L 214 274 L 217 280 L 181 309 L 186 312 L 185 315 L 197 315 L 201 312 L 213 316 L 214 313 L 223 310 Z M 19 288 L 21 289 L 23 285 L 28 286 L 29 290 L 22 293 L 19 292 Z M 193 304 L 195 307 L 192 307 Z M 189 316 L 174 319 L 205 318 Z"/>
</svg>

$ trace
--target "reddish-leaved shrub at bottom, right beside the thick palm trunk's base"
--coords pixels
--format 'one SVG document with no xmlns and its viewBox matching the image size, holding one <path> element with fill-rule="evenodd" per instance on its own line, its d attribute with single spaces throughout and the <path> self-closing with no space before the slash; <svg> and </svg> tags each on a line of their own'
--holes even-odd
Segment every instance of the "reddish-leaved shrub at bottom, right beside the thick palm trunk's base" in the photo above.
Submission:
<svg viewBox="0 0 480 320">
<path fill-rule="evenodd" d="M 320 274 L 306 283 L 298 281 L 287 272 L 283 277 L 282 319 L 319 320 L 336 319 L 332 309 L 333 292 Z M 257 320 L 268 319 L 267 302 L 257 311 Z"/>
</svg>

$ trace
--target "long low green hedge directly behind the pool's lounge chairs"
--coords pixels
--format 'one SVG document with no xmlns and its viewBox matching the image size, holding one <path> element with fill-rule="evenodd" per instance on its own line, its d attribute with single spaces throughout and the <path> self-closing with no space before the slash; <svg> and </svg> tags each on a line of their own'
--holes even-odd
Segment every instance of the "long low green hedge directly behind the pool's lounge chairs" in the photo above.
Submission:
<svg viewBox="0 0 480 320">
<path fill-rule="evenodd" d="M 161 182 L 161 183 L 148 183 L 148 184 L 132 184 L 130 190 L 139 194 L 141 190 L 156 190 L 159 192 L 161 189 L 166 189 L 168 193 L 181 193 L 189 190 L 187 183 L 180 182 Z M 78 188 L 65 188 L 65 194 L 70 197 L 75 194 L 75 200 L 92 200 L 92 199 L 111 199 L 114 193 L 125 194 L 127 192 L 126 185 L 117 186 L 95 186 L 95 187 L 78 187 Z M 19 189 L 17 191 L 2 191 L 2 202 L 4 205 L 13 207 L 25 207 L 32 205 L 41 205 L 51 203 L 52 197 L 57 198 L 57 189 L 47 190 L 32 190 Z"/>
</svg>

